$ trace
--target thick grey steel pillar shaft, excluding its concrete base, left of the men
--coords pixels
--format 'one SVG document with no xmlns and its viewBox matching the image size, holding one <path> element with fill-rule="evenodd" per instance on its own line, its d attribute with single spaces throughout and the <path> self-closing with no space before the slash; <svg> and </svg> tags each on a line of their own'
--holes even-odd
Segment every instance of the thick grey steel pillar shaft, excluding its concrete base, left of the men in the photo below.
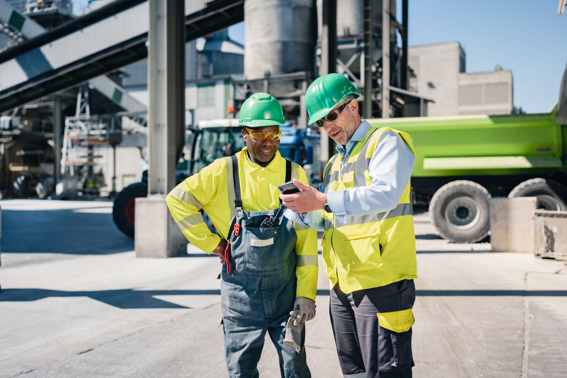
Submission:
<svg viewBox="0 0 567 378">
<path fill-rule="evenodd" d="M 185 3 L 149 5 L 148 194 L 167 194 L 175 187 L 177 145 L 185 128 Z"/>
</svg>

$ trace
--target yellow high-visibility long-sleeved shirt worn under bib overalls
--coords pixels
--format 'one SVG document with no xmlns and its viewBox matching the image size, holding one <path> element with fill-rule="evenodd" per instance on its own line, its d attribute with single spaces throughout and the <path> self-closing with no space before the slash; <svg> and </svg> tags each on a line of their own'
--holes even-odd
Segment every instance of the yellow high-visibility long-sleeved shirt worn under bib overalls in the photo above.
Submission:
<svg viewBox="0 0 567 378">
<path fill-rule="evenodd" d="M 286 161 L 281 157 L 280 152 L 276 152 L 276 156 L 266 167 L 252 163 L 246 147 L 236 152 L 236 158 L 242 210 L 262 211 L 280 207 L 278 185 L 285 182 L 286 166 Z M 232 178 L 232 171 L 227 172 L 228 160 L 230 157 L 215 160 L 199 173 L 177 185 L 166 198 L 171 215 L 183 234 L 191 244 L 206 253 L 211 253 L 217 247 L 221 237 L 228 239 L 230 224 L 234 217 L 234 190 L 227 188 L 227 174 Z M 291 179 L 298 179 L 308 184 L 304 169 L 295 163 L 291 163 Z M 229 189 L 233 201 L 231 204 L 229 204 Z M 210 232 L 199 213 L 200 209 L 205 210 L 209 215 L 220 237 Z M 297 259 L 296 296 L 315 300 L 318 278 L 317 232 L 298 223 L 294 223 L 294 229 L 297 234 L 295 245 L 297 256 L 315 256 L 315 258 Z"/>
</svg>

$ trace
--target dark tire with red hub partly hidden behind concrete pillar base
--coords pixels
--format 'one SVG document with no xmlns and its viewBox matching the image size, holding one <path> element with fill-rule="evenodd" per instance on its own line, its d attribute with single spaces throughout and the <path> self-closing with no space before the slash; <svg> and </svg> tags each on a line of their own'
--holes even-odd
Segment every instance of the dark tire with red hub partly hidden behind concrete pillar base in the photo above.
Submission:
<svg viewBox="0 0 567 378">
<path fill-rule="evenodd" d="M 134 237 L 134 201 L 138 197 L 147 197 L 145 182 L 126 186 L 117 194 L 112 206 L 112 219 L 116 227 L 130 237 Z"/>
</svg>

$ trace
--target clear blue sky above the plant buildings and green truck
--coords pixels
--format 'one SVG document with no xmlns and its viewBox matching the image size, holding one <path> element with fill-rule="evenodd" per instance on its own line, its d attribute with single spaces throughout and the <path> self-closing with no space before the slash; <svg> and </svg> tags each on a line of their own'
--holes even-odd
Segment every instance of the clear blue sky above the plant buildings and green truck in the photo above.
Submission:
<svg viewBox="0 0 567 378">
<path fill-rule="evenodd" d="M 401 19 L 401 1 L 398 0 Z M 514 105 L 547 113 L 557 103 L 567 63 L 567 12 L 558 0 L 409 0 L 409 45 L 459 41 L 467 72 L 512 70 Z M 244 44 L 244 24 L 229 28 Z"/>
</svg>

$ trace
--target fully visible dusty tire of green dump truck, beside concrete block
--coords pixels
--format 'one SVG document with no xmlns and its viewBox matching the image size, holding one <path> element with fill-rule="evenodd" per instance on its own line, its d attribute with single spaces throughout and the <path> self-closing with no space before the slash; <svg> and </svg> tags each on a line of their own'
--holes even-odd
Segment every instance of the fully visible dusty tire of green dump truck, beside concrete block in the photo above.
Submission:
<svg viewBox="0 0 567 378">
<path fill-rule="evenodd" d="M 457 180 L 441 186 L 431 198 L 431 222 L 443 239 L 476 243 L 490 230 L 490 193 L 473 181 Z"/>
</svg>

